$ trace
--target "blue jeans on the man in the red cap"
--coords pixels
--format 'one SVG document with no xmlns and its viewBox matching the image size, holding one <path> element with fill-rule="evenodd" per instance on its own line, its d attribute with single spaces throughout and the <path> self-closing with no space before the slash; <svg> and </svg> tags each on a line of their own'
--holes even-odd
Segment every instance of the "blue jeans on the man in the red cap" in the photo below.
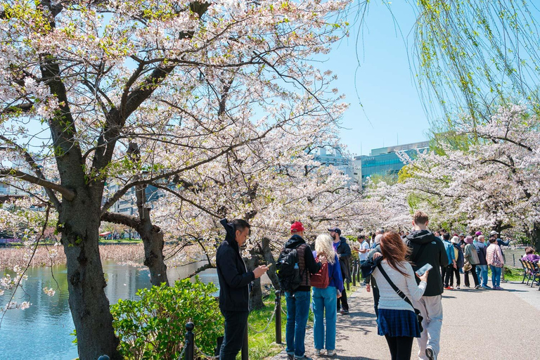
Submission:
<svg viewBox="0 0 540 360">
<path fill-rule="evenodd" d="M 303 358 L 306 352 L 304 339 L 306 338 L 307 316 L 309 315 L 309 291 L 285 292 L 287 301 L 287 326 L 285 327 L 285 340 L 287 354 L 295 358 Z"/>
</svg>

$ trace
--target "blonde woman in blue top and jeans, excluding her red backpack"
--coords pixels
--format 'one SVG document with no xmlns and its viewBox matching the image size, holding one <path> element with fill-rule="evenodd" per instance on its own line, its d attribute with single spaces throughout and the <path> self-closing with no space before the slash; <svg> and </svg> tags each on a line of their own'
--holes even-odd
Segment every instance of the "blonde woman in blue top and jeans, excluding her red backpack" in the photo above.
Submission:
<svg viewBox="0 0 540 360">
<path fill-rule="evenodd" d="M 313 338 L 317 356 L 321 355 L 322 349 L 326 349 L 328 356 L 335 355 L 335 307 L 343 290 L 343 278 L 341 276 L 340 260 L 332 243 L 333 240 L 328 234 L 321 234 L 315 239 L 315 251 L 313 252 L 315 259 L 318 256 L 323 256 L 328 260 L 328 269 L 326 271 L 328 271 L 329 279 L 327 288 L 313 288 L 313 300 L 311 300 L 315 317 Z M 326 332 L 324 328 L 325 318 Z"/>
</svg>

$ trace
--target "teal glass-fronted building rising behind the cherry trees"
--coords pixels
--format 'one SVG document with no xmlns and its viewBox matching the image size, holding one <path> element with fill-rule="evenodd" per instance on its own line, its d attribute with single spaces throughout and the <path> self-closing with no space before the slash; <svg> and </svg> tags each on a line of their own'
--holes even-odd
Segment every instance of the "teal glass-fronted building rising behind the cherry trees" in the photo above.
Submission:
<svg viewBox="0 0 540 360">
<path fill-rule="evenodd" d="M 427 151 L 429 147 L 429 141 L 421 141 L 419 143 L 388 146 L 387 148 L 376 148 L 371 150 L 369 156 L 355 156 L 354 165 L 359 171 L 362 184 L 364 184 L 368 177 L 373 175 L 397 176 L 399 170 L 405 165 L 399 160 L 398 151 L 404 151 L 411 158 L 414 158 L 418 151 Z"/>
</svg>

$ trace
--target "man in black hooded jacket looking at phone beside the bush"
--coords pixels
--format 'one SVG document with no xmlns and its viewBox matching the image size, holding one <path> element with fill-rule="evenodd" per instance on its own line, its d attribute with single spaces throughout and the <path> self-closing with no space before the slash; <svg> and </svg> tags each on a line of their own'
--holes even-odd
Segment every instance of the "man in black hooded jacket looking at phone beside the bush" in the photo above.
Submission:
<svg viewBox="0 0 540 360">
<path fill-rule="evenodd" d="M 244 332 L 248 327 L 250 295 L 248 285 L 260 278 L 268 268 L 259 266 L 253 271 L 245 267 L 240 246 L 250 233 L 250 224 L 242 219 L 231 223 L 221 219 L 226 230 L 225 240 L 217 249 L 216 267 L 219 278 L 219 309 L 225 318 L 225 335 L 219 351 L 220 360 L 234 360 L 242 349 Z"/>
</svg>

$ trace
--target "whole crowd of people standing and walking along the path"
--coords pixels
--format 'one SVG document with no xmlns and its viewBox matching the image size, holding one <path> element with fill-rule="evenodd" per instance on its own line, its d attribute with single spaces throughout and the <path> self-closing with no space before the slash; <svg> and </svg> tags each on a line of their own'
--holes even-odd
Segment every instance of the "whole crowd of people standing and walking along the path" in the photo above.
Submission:
<svg viewBox="0 0 540 360">
<path fill-rule="evenodd" d="M 219 359 L 236 359 L 242 348 L 248 323 L 248 285 L 269 269 L 258 266 L 248 271 L 240 246 L 250 231 L 247 221 L 221 221 L 226 238 L 217 250 L 219 307 L 225 318 L 225 334 Z M 494 290 L 500 287 L 504 265 L 501 245 L 508 246 L 491 231 L 489 244 L 481 231 L 475 236 L 450 235 L 428 230 L 428 215 L 413 214 L 411 232 L 377 229 L 371 236 L 358 236 L 358 252 L 364 283 L 373 292 L 378 334 L 385 336 L 392 360 L 411 359 L 413 340 L 418 341 L 418 358 L 437 359 L 442 328 L 442 293 L 464 286 L 489 289 L 488 266 Z M 320 234 L 314 249 L 304 239 L 304 226 L 295 221 L 290 238 L 276 262 L 276 274 L 285 292 L 287 322 L 285 351 L 290 360 L 309 359 L 305 333 L 309 309 L 314 313 L 316 355 L 335 356 L 337 314 L 349 314 L 345 281 L 350 281 L 352 250 L 338 227 Z M 529 250 L 530 249 L 530 250 Z M 540 257 L 527 248 L 529 261 Z M 470 277 L 473 283 L 470 283 Z M 456 287 L 454 288 L 454 280 Z"/>
</svg>

